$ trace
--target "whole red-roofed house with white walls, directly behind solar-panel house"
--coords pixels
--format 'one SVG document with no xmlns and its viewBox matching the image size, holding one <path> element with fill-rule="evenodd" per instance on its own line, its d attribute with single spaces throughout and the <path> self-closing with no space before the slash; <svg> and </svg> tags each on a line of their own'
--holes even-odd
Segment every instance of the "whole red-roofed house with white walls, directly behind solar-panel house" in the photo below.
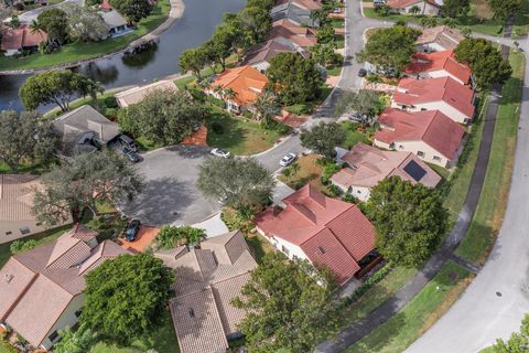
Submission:
<svg viewBox="0 0 529 353">
<path fill-rule="evenodd" d="M 404 111 L 387 108 L 378 119 L 374 145 L 412 152 L 443 168 L 455 164 L 465 129 L 440 110 Z"/>
</svg>

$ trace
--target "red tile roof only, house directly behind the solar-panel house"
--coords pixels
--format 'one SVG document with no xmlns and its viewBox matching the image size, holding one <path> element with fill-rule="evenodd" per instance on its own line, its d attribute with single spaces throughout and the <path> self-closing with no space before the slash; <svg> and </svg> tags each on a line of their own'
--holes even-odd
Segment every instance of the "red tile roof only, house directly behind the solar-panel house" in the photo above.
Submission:
<svg viewBox="0 0 529 353">
<path fill-rule="evenodd" d="M 386 108 L 378 120 L 381 129 L 375 139 L 386 143 L 423 141 L 452 160 L 465 129 L 439 110 L 403 111 Z"/>
</svg>

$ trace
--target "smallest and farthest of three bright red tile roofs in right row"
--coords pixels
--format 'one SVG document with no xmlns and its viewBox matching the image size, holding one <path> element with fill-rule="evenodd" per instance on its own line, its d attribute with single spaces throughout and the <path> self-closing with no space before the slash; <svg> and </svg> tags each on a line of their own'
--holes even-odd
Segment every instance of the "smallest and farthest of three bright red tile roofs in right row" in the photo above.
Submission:
<svg viewBox="0 0 529 353">
<path fill-rule="evenodd" d="M 453 51 L 414 53 L 404 73 L 418 75 L 432 71 L 445 71 L 465 85 L 471 81 L 471 68 L 465 64 L 458 63 L 454 57 Z"/>
</svg>

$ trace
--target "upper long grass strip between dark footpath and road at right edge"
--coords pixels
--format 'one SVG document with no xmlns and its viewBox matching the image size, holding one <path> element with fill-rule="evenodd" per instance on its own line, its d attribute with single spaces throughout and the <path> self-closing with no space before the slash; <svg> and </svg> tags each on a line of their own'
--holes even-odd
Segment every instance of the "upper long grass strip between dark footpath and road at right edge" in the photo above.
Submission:
<svg viewBox="0 0 529 353">
<path fill-rule="evenodd" d="M 514 76 L 501 90 L 501 101 L 496 117 L 493 148 L 479 204 L 466 237 L 456 254 L 477 263 L 484 263 L 501 227 L 507 207 L 510 176 L 516 150 L 516 135 L 520 118 L 521 85 L 525 58 L 521 53 L 510 53 Z"/>
</svg>

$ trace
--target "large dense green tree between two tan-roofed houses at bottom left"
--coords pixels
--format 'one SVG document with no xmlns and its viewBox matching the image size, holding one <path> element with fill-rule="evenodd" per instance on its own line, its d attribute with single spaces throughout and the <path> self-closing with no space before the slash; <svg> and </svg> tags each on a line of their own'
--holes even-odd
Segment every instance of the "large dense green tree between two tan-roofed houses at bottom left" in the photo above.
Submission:
<svg viewBox="0 0 529 353">
<path fill-rule="evenodd" d="M 173 270 L 150 254 L 108 259 L 85 276 L 80 322 L 108 343 L 148 338 L 163 324 L 174 279 Z"/>
</svg>

